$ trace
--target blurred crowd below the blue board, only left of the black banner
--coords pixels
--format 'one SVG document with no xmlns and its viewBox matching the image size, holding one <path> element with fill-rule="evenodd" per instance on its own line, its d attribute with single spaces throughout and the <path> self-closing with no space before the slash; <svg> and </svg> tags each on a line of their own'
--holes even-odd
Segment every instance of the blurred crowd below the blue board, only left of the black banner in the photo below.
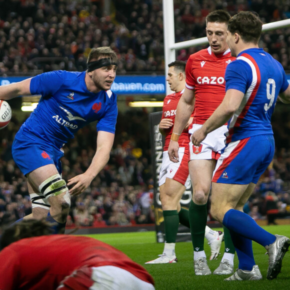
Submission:
<svg viewBox="0 0 290 290">
<path fill-rule="evenodd" d="M 31 212 L 25 177 L 15 166 L 11 144 L 20 123 L 12 118 L 0 131 L 0 225 Z M 63 147 L 62 177 L 80 174 L 96 147 L 95 124 L 80 129 Z M 67 226 L 134 225 L 154 222 L 148 115 L 119 112 L 108 164 L 79 196 L 72 197 Z"/>
</svg>

